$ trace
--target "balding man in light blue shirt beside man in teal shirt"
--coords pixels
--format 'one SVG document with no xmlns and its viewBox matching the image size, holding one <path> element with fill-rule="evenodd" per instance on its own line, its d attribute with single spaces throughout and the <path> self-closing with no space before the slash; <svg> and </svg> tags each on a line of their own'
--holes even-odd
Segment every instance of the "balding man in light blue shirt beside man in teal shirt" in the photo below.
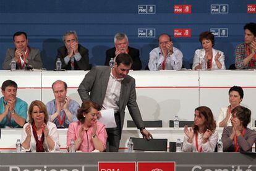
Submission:
<svg viewBox="0 0 256 171">
<path fill-rule="evenodd" d="M 78 102 L 67 97 L 67 84 L 57 80 L 51 86 L 55 99 L 46 104 L 49 121 L 58 128 L 68 128 L 69 123 L 77 121 Z"/>
</svg>

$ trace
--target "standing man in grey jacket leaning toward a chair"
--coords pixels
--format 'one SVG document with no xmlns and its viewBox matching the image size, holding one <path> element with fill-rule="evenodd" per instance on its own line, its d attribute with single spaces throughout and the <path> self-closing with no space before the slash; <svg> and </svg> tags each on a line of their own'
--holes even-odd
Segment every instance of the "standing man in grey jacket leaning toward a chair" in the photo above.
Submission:
<svg viewBox="0 0 256 171">
<path fill-rule="evenodd" d="M 90 100 L 100 104 L 102 109 L 114 109 L 117 128 L 107 128 L 109 151 L 113 152 L 119 149 L 126 106 L 143 137 L 152 137 L 145 129 L 136 102 L 135 80 L 127 75 L 131 65 L 129 54 L 121 53 L 113 67 L 99 66 L 88 72 L 78 89 L 82 101 Z"/>
</svg>

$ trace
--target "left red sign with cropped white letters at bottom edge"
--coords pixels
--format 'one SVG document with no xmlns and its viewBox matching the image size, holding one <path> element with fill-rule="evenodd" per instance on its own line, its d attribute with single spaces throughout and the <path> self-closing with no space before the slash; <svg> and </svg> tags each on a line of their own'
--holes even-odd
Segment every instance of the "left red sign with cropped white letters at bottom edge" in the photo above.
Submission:
<svg viewBox="0 0 256 171">
<path fill-rule="evenodd" d="M 98 171 L 135 171 L 136 162 L 98 162 Z"/>
</svg>

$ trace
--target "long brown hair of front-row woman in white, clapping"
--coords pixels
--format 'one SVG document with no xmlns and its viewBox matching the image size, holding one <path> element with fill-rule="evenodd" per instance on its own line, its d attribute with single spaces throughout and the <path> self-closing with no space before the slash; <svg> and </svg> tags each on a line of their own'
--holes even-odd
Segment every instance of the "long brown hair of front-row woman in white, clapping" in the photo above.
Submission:
<svg viewBox="0 0 256 171">
<path fill-rule="evenodd" d="M 200 106 L 200 107 L 197 107 L 195 109 L 195 111 L 198 111 L 200 116 L 204 116 L 205 117 L 205 130 L 204 132 L 208 129 L 208 130 L 211 130 L 211 131 L 214 131 L 215 128 L 216 128 L 216 122 L 215 120 L 213 119 L 213 112 L 211 112 L 211 109 L 207 106 Z M 197 125 L 193 125 L 193 130 L 194 130 L 194 133 L 198 132 L 199 128 Z"/>
</svg>

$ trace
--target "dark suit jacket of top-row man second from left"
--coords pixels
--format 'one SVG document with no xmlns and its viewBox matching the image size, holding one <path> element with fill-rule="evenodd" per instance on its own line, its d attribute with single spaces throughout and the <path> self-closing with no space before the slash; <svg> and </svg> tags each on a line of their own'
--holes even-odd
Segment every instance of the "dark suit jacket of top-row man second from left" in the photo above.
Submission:
<svg viewBox="0 0 256 171">
<path fill-rule="evenodd" d="M 79 44 L 78 47 L 79 53 L 82 56 L 82 58 L 77 61 L 74 60 L 75 63 L 75 70 L 89 70 L 89 51 L 88 49 L 84 48 L 81 44 Z M 66 46 L 62 46 L 58 49 L 58 54 L 56 56 L 56 60 L 58 58 L 61 59 L 61 68 L 66 70 L 71 70 L 71 60 L 69 60 L 69 63 L 66 65 L 64 62 L 64 58 L 67 56 L 67 48 Z M 55 62 L 56 62 L 55 60 Z"/>
</svg>

